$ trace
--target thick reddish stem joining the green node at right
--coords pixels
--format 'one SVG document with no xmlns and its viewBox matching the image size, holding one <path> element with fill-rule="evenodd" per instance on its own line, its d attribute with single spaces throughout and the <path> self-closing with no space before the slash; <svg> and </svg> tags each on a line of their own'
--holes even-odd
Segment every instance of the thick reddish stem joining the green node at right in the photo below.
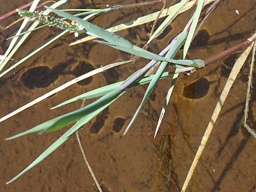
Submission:
<svg viewBox="0 0 256 192">
<path fill-rule="evenodd" d="M 252 42 L 247 40 L 247 41 L 244 41 L 242 42 L 241 44 L 238 44 L 234 47 L 231 47 L 223 52 L 219 52 L 218 54 L 216 55 L 213 55 L 212 57 L 209 57 L 207 59 L 204 60 L 205 64 L 211 64 L 211 63 L 214 63 L 215 61 L 218 61 L 224 57 L 226 57 L 227 55 L 231 55 L 233 52 L 236 52 L 237 50 L 239 49 L 242 49 L 244 46 L 248 46 L 250 45 Z"/>
</svg>

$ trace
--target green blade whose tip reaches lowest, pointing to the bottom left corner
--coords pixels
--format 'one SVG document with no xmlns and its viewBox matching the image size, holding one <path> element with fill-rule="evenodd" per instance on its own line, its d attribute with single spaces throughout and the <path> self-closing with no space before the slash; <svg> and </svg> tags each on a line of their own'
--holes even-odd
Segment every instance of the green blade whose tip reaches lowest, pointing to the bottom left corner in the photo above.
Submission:
<svg viewBox="0 0 256 192">
<path fill-rule="evenodd" d="M 120 94 L 119 96 L 121 96 Z M 118 97 L 116 99 L 118 99 Z M 51 154 L 53 151 L 55 151 L 61 144 L 63 144 L 65 141 L 67 141 L 72 134 L 74 134 L 81 126 L 89 122 L 93 117 L 95 117 L 97 114 L 99 114 L 101 111 L 103 111 L 105 108 L 107 108 L 112 102 L 114 102 L 116 99 L 113 99 L 111 102 L 106 103 L 101 108 L 97 109 L 96 111 L 93 111 L 90 114 L 87 114 L 86 116 L 82 117 L 78 122 L 76 122 L 75 125 L 72 126 L 66 133 L 64 133 L 58 140 L 56 140 L 52 145 L 49 146 L 41 155 L 38 156 L 26 169 L 24 169 L 22 172 L 20 172 L 17 176 L 15 176 L 12 180 L 9 180 L 6 184 L 11 183 L 12 181 L 19 178 L 21 175 L 29 171 L 29 169 L 32 169 L 34 166 L 36 166 L 38 163 L 40 163 L 42 160 L 44 160 L 49 154 Z"/>
</svg>

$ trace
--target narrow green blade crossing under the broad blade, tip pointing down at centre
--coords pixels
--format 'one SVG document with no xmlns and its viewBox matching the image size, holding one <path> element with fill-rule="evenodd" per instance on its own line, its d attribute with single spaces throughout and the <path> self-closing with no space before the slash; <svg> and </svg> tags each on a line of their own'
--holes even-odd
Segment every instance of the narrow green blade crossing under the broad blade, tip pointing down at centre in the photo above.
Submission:
<svg viewBox="0 0 256 192">
<path fill-rule="evenodd" d="M 186 40 L 188 32 L 183 31 L 182 33 L 180 33 L 180 35 L 178 35 L 173 41 L 174 44 L 171 47 L 171 49 L 169 49 L 169 51 L 166 54 L 166 57 L 168 58 L 174 58 L 174 56 L 176 55 L 177 51 L 180 49 L 180 47 L 183 45 L 183 43 Z M 143 108 L 143 106 L 145 105 L 146 100 L 148 99 L 149 95 L 151 94 L 151 92 L 153 91 L 154 87 L 156 86 L 157 82 L 159 81 L 160 77 L 162 76 L 163 72 L 166 70 L 166 67 L 168 66 L 168 62 L 162 62 L 162 64 L 160 65 L 160 67 L 157 70 L 157 73 L 155 74 L 154 78 L 151 80 L 150 84 L 148 85 L 148 88 L 145 92 L 145 95 L 143 97 L 143 100 L 139 106 L 139 108 L 137 109 L 136 113 L 134 114 L 133 118 L 131 119 L 131 122 L 129 123 L 128 127 L 126 128 L 124 135 L 127 133 L 127 131 L 129 130 L 129 128 L 131 127 L 131 125 L 133 124 L 133 122 L 135 121 L 135 119 L 137 118 L 137 116 L 139 115 L 141 109 Z"/>
</svg>

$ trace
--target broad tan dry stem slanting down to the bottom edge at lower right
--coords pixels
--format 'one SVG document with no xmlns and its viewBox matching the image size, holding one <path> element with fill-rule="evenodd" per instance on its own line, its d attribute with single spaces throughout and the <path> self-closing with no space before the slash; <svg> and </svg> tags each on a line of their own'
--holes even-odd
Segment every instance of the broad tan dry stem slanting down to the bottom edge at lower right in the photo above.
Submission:
<svg viewBox="0 0 256 192">
<path fill-rule="evenodd" d="M 215 107 L 215 110 L 212 113 L 211 120 L 209 121 L 207 129 L 206 129 L 206 131 L 204 133 L 204 137 L 202 138 L 201 144 L 200 144 L 200 146 L 198 148 L 198 151 L 196 152 L 195 158 L 194 158 L 194 160 L 192 162 L 192 165 L 191 165 L 191 167 L 189 169 L 189 173 L 188 173 L 188 175 L 186 177 L 186 180 L 185 180 L 185 182 L 183 184 L 181 192 L 185 192 L 186 191 L 186 188 L 187 188 L 187 186 L 189 184 L 189 181 L 190 181 L 190 179 L 191 179 L 191 177 L 192 177 L 192 175 L 193 175 L 193 173 L 195 171 L 195 167 L 196 167 L 196 165 L 198 163 L 198 160 L 201 157 L 201 154 L 204 151 L 204 147 L 205 147 L 205 145 L 206 145 L 206 143 L 207 143 L 207 141 L 209 139 L 209 136 L 210 136 L 210 134 L 212 132 L 212 128 L 213 128 L 213 126 L 214 126 L 214 124 L 215 124 L 215 122 L 216 122 L 216 120 L 217 120 L 217 118 L 219 116 L 221 108 L 222 108 L 222 106 L 223 106 L 223 104 L 224 104 L 224 102 L 225 102 L 225 100 L 227 98 L 228 93 L 230 92 L 230 89 L 231 89 L 231 87 L 232 87 L 232 85 L 233 85 L 233 83 L 234 83 L 234 81 L 236 79 L 236 76 L 238 75 L 238 73 L 241 70 L 241 67 L 243 66 L 247 56 L 249 55 L 249 53 L 250 53 L 250 51 L 251 51 L 251 49 L 253 47 L 253 44 L 254 43 L 252 43 L 249 47 L 247 47 L 247 49 L 241 54 L 241 56 L 238 58 L 238 60 L 234 64 L 233 69 L 231 70 L 230 76 L 227 79 L 225 87 L 224 87 L 224 89 L 223 89 L 223 91 L 221 93 L 220 99 L 218 100 L 218 103 L 217 103 L 217 105 Z"/>
</svg>

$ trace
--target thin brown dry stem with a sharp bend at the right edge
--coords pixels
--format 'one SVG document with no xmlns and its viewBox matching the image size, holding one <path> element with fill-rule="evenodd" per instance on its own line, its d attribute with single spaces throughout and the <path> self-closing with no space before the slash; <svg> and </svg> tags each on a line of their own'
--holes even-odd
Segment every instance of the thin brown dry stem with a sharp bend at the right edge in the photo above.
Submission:
<svg viewBox="0 0 256 192">
<path fill-rule="evenodd" d="M 249 112 L 249 102 L 250 102 L 250 88 L 252 86 L 252 79 L 253 79 L 253 67 L 254 67 L 254 60 L 255 60 L 255 49 L 256 49 L 256 41 L 254 41 L 254 46 L 253 46 L 253 52 L 252 52 L 252 61 L 250 64 L 250 74 L 248 76 L 248 82 L 247 82 L 247 93 L 246 93 L 246 102 L 245 102 L 245 108 L 244 108 L 244 128 L 247 129 L 247 131 L 256 138 L 256 134 L 253 131 L 252 128 L 247 124 L 247 119 L 248 119 L 248 112 Z"/>
</svg>

